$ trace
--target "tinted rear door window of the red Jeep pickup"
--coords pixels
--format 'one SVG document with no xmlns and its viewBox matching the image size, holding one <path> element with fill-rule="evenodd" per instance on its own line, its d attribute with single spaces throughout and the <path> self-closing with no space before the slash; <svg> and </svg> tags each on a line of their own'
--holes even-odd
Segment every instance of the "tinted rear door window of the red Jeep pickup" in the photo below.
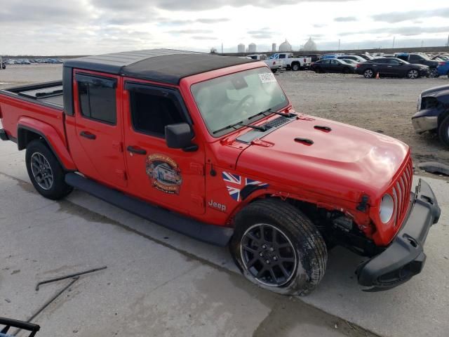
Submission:
<svg viewBox="0 0 449 337">
<path fill-rule="evenodd" d="M 116 81 L 76 74 L 81 114 L 107 124 L 116 124 Z"/>
</svg>

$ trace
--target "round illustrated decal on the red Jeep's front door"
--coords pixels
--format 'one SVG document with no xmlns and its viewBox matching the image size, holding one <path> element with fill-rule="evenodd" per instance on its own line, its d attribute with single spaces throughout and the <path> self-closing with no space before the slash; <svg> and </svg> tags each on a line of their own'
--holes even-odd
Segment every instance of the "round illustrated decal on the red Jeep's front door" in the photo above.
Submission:
<svg viewBox="0 0 449 337">
<path fill-rule="evenodd" d="M 163 154 L 150 154 L 146 161 L 146 171 L 152 186 L 157 190 L 180 194 L 181 171 L 173 159 Z"/>
</svg>

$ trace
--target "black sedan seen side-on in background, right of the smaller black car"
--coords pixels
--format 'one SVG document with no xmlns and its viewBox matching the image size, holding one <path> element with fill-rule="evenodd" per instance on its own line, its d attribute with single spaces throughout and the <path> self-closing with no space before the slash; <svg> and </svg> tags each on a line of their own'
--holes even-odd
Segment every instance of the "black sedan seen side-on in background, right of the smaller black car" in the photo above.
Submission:
<svg viewBox="0 0 449 337">
<path fill-rule="evenodd" d="M 356 73 L 366 79 L 373 79 L 379 73 L 383 77 L 408 77 L 417 79 L 429 76 L 427 65 L 412 65 L 398 58 L 374 58 L 356 65 Z"/>
</svg>

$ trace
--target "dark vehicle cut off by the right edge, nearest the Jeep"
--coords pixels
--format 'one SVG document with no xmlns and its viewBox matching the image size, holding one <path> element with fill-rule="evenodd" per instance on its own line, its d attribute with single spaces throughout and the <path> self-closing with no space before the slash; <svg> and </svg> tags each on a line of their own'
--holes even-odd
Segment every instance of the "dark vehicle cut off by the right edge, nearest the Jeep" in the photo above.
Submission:
<svg viewBox="0 0 449 337">
<path fill-rule="evenodd" d="M 417 133 L 437 131 L 441 142 L 449 146 L 449 86 L 422 91 L 412 124 Z"/>
</svg>

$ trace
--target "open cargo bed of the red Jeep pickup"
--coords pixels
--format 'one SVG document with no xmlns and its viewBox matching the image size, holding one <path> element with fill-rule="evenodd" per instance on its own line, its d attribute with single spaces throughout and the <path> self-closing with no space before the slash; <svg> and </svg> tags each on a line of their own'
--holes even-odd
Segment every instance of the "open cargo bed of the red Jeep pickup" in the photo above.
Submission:
<svg viewBox="0 0 449 337">
<path fill-rule="evenodd" d="M 28 86 L 17 86 L 0 90 L 0 94 L 27 100 L 32 103 L 49 105 L 50 107 L 62 110 L 64 107 L 62 100 L 62 81 L 52 81 Z"/>
</svg>

